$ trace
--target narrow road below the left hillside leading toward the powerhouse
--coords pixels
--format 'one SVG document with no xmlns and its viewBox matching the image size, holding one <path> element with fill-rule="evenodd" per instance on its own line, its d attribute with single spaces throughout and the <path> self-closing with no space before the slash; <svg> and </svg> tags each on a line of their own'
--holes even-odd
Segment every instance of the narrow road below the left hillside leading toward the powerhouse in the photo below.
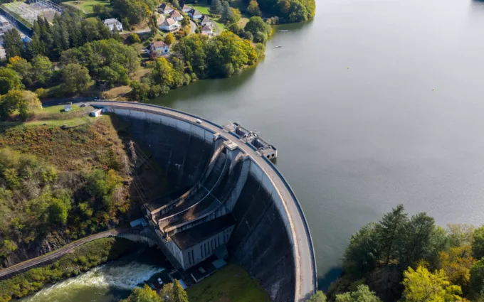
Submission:
<svg viewBox="0 0 484 302">
<path fill-rule="evenodd" d="M 59 258 L 59 257 L 63 256 L 64 254 L 70 252 L 72 249 L 75 249 L 76 247 L 80 247 L 81 245 L 83 245 L 85 243 L 88 243 L 88 242 L 91 242 L 91 241 L 94 241 L 94 240 L 97 240 L 97 239 L 105 238 L 105 237 L 112 237 L 112 236 L 115 236 L 117 234 L 120 234 L 121 232 L 126 232 L 127 230 L 130 230 L 130 228 L 129 227 L 120 228 L 120 229 L 110 230 L 110 231 L 107 231 L 107 232 L 93 234 L 91 236 L 85 237 L 85 238 L 80 239 L 78 241 L 72 242 L 72 243 L 66 245 L 65 247 L 61 247 L 61 249 L 57 249 L 56 251 L 51 252 L 49 254 L 45 254 L 41 257 L 37 257 L 37 258 L 30 259 L 30 260 L 27 260 L 27 261 L 23 261 L 19 264 L 15 264 L 14 266 L 10 266 L 10 267 L 7 267 L 6 269 L 2 269 L 2 270 L 0 270 L 0 278 L 2 276 L 6 276 L 8 274 L 15 273 L 16 271 L 28 269 L 31 266 L 36 266 L 38 264 L 42 264 L 43 262 Z"/>
</svg>

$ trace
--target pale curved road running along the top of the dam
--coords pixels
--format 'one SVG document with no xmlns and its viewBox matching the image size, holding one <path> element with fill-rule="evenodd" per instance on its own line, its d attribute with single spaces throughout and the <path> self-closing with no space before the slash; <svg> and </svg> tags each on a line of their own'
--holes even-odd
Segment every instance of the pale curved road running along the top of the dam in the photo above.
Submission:
<svg viewBox="0 0 484 302">
<path fill-rule="evenodd" d="M 153 107 L 149 105 L 132 103 L 132 102 L 91 102 L 93 105 L 98 106 L 110 106 L 126 109 L 141 109 L 143 111 L 155 112 L 158 114 L 167 115 L 170 117 L 176 117 L 177 119 L 196 123 L 196 117 L 191 117 L 188 114 L 176 112 L 171 109 L 165 109 L 162 107 Z M 221 134 L 225 139 L 233 141 L 244 152 L 251 156 L 258 166 L 260 166 L 265 174 L 270 177 L 273 182 L 274 188 L 278 191 L 285 210 L 288 212 L 290 218 L 290 227 L 293 231 L 293 238 L 295 238 L 295 259 L 296 259 L 296 288 L 294 301 L 305 301 L 305 299 L 314 293 L 317 280 L 316 280 L 316 266 L 315 257 L 312 249 L 312 242 L 310 241 L 309 230 L 306 228 L 306 222 L 304 217 L 300 214 L 297 201 L 293 199 L 290 189 L 285 185 L 283 179 L 278 176 L 272 166 L 265 161 L 256 151 L 253 151 L 249 146 L 240 141 L 236 136 L 222 131 L 219 127 L 204 122 L 201 124 L 206 129 Z"/>
</svg>

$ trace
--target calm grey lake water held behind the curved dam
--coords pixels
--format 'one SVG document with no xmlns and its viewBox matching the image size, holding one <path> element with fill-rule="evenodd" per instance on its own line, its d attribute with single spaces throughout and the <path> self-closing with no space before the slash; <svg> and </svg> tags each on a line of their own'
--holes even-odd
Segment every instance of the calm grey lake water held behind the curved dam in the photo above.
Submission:
<svg viewBox="0 0 484 302">
<path fill-rule="evenodd" d="M 280 28 L 257 68 L 154 103 L 278 147 L 320 285 L 349 236 L 399 203 L 441 225 L 484 222 L 484 2 L 318 0 L 314 21 Z"/>
</svg>

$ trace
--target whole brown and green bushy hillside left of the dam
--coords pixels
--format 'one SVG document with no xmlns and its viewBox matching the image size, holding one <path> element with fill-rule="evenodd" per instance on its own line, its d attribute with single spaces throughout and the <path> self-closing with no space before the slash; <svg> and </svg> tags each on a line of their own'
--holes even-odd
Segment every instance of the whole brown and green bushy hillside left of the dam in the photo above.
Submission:
<svg viewBox="0 0 484 302">
<path fill-rule="evenodd" d="M 88 117 L 90 110 L 50 107 L 31 122 L 0 123 L 1 266 L 125 225 L 138 208 L 129 140 L 115 117 Z"/>
</svg>

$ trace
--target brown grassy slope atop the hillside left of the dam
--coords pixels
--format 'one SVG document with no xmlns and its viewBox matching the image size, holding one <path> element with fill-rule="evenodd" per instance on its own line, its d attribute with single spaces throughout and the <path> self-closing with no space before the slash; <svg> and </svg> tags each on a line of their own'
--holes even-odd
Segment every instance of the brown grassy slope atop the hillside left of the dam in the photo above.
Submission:
<svg viewBox="0 0 484 302">
<path fill-rule="evenodd" d="M 76 127 L 61 129 L 63 124 Z M 102 168 L 108 151 L 125 153 L 109 116 L 0 123 L 0 148 L 6 146 L 43 158 L 61 171 Z"/>
</svg>

